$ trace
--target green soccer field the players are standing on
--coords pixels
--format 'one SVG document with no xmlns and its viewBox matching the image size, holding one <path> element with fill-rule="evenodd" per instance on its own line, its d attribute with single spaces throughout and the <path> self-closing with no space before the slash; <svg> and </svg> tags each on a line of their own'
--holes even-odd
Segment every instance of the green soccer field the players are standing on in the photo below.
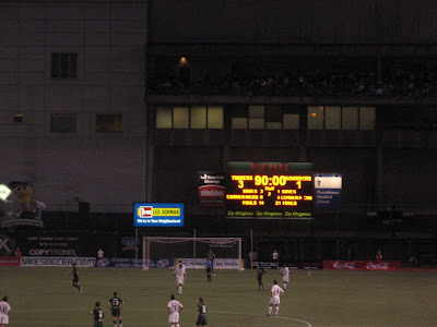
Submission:
<svg viewBox="0 0 437 327">
<path fill-rule="evenodd" d="M 168 326 L 172 294 L 184 304 L 181 326 L 194 326 L 197 299 L 208 305 L 214 326 L 437 326 L 435 271 L 292 271 L 277 317 L 268 317 L 270 287 L 281 276 L 264 275 L 258 291 L 255 270 L 218 270 L 212 282 L 203 270 L 187 270 L 178 295 L 170 269 L 79 268 L 83 293 L 71 287 L 71 268 L 0 267 L 0 295 L 9 295 L 11 327 L 93 326 L 96 301 L 105 308 L 117 291 L 125 301 L 123 327 Z"/>
</svg>

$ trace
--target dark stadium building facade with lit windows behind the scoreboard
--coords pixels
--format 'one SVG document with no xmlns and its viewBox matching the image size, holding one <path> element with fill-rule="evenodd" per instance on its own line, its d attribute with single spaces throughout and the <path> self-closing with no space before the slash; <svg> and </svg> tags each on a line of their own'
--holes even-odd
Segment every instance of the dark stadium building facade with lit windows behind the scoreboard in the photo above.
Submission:
<svg viewBox="0 0 437 327">
<path fill-rule="evenodd" d="M 184 203 L 185 228 L 147 233 L 252 230 L 292 259 L 436 255 L 435 2 L 0 5 L 0 182 L 32 179 L 47 211 Z M 227 219 L 199 206 L 198 173 L 228 161 L 339 173 L 341 208 Z"/>
</svg>

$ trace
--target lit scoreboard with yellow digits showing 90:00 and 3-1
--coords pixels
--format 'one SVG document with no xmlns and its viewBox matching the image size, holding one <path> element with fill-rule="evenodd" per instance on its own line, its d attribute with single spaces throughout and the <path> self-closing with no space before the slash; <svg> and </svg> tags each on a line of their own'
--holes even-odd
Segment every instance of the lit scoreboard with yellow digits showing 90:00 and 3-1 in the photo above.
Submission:
<svg viewBox="0 0 437 327">
<path fill-rule="evenodd" d="M 227 218 L 311 219 L 310 162 L 227 164 Z"/>
</svg>

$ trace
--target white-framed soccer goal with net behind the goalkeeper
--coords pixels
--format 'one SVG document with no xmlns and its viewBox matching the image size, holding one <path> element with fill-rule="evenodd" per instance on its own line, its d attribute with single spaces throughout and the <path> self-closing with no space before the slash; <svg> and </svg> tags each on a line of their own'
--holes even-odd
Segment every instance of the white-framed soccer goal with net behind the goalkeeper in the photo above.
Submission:
<svg viewBox="0 0 437 327">
<path fill-rule="evenodd" d="M 203 268 L 212 250 L 215 268 L 243 270 L 240 238 L 143 238 L 143 269 L 181 261 L 186 268 Z"/>
</svg>

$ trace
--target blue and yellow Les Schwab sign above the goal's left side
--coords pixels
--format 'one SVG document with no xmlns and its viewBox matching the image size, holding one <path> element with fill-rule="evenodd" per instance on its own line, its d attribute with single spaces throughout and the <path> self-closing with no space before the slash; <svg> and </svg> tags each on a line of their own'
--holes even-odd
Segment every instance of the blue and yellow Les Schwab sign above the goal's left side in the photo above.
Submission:
<svg viewBox="0 0 437 327">
<path fill-rule="evenodd" d="M 134 227 L 184 227 L 182 203 L 133 203 Z"/>
</svg>

